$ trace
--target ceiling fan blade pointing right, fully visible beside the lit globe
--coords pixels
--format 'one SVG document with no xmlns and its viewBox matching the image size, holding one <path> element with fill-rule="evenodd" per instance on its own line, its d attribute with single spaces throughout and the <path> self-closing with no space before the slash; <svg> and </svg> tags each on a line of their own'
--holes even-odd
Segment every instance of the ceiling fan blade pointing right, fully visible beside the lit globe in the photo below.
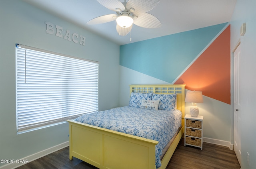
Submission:
<svg viewBox="0 0 256 169">
<path fill-rule="evenodd" d="M 134 19 L 133 23 L 142 28 L 160 28 L 162 26 L 155 16 L 148 13 L 138 15 L 138 18 Z"/>
</svg>

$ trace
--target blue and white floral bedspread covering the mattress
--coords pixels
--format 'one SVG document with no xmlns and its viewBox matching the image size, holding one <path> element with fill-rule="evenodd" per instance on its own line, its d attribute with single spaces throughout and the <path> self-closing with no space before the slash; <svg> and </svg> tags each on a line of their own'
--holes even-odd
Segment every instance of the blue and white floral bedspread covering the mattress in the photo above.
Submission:
<svg viewBox="0 0 256 169">
<path fill-rule="evenodd" d="M 181 126 L 181 112 L 125 106 L 84 114 L 75 121 L 159 141 L 156 145 L 156 168 L 159 168 L 162 149 Z"/>
</svg>

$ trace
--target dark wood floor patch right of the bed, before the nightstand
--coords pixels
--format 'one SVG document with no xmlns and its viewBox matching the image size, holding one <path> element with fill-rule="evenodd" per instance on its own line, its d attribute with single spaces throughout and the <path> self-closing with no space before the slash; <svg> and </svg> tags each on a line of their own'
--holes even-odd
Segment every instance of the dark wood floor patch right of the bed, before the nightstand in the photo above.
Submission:
<svg viewBox="0 0 256 169">
<path fill-rule="evenodd" d="M 240 169 L 236 154 L 228 147 L 203 142 L 203 150 L 180 141 L 167 169 Z"/>
</svg>

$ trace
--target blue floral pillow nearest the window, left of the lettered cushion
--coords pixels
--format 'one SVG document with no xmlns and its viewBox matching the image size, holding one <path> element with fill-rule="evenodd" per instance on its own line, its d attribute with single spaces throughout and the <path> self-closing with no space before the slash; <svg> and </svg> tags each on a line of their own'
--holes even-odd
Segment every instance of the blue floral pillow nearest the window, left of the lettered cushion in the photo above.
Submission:
<svg viewBox="0 0 256 169">
<path fill-rule="evenodd" d="M 140 107 L 141 100 L 152 100 L 152 93 L 136 93 L 132 92 L 130 97 L 130 107 Z"/>
</svg>

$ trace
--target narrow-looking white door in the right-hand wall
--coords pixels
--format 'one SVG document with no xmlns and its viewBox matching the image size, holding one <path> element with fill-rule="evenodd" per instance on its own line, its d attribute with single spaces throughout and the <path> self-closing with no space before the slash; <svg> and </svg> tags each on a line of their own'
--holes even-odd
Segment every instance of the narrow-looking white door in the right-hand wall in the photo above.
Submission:
<svg viewBox="0 0 256 169">
<path fill-rule="evenodd" d="M 234 51 L 234 150 L 241 165 L 241 112 L 239 96 L 240 45 Z"/>
</svg>

